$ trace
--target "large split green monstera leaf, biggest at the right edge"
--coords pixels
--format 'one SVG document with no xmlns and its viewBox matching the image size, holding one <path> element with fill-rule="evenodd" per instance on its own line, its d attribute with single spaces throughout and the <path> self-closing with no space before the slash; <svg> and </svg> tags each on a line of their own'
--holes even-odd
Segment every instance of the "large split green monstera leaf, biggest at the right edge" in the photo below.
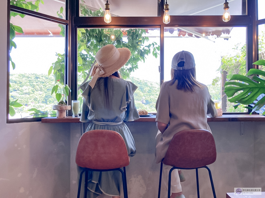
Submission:
<svg viewBox="0 0 265 198">
<path fill-rule="evenodd" d="M 248 77 L 240 74 L 233 75 L 230 81 L 224 84 L 224 92 L 227 97 L 231 97 L 228 101 L 249 105 L 261 94 L 265 94 L 265 80 L 255 75 L 265 77 L 265 72 L 259 69 L 250 69 L 247 73 Z M 236 93 L 238 93 L 238 95 L 234 96 Z M 259 110 L 264 105 L 265 97 L 262 97 L 255 103 L 251 113 Z"/>
</svg>

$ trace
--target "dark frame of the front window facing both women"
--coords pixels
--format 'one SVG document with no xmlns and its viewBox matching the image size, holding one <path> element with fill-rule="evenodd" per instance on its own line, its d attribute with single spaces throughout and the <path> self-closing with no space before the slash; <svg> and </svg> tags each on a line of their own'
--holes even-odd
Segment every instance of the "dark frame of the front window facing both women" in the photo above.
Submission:
<svg viewBox="0 0 265 198">
<path fill-rule="evenodd" d="M 164 80 L 164 27 L 246 27 L 246 73 L 249 69 L 254 68 L 252 65 L 255 62 L 255 56 L 252 55 L 254 51 L 253 45 L 253 17 L 256 15 L 256 1 L 247 1 L 247 15 L 233 15 L 231 20 L 223 22 L 222 16 L 170 16 L 171 22 L 169 24 L 163 23 L 163 15 L 157 17 L 112 17 L 112 21 L 107 24 L 103 17 L 82 17 L 79 16 L 79 0 L 76 3 L 76 15 L 73 17 L 74 29 L 77 28 L 119 28 L 119 27 L 147 27 L 157 26 L 160 28 L 160 84 Z M 158 13 L 164 13 L 164 3 L 160 2 L 158 6 Z M 254 3 L 254 4 L 253 4 Z M 144 20 L 143 20 L 144 19 Z M 207 24 L 207 25 L 206 25 Z M 77 46 L 77 35 L 74 37 L 75 46 Z M 75 49 L 77 52 L 77 48 Z M 73 53 L 73 52 L 72 52 Z M 75 56 L 74 64 L 77 65 L 77 56 Z M 77 67 L 77 66 L 76 66 Z M 77 70 L 75 71 L 77 73 Z M 75 74 L 77 76 L 77 74 Z M 77 86 L 75 87 L 77 90 Z M 72 89 L 73 90 L 73 89 Z M 75 91 L 77 92 L 77 91 Z M 77 95 L 77 93 L 76 93 Z M 70 100 L 77 100 L 77 97 L 72 97 Z M 249 114 L 248 112 L 225 112 L 224 114 Z"/>
</svg>

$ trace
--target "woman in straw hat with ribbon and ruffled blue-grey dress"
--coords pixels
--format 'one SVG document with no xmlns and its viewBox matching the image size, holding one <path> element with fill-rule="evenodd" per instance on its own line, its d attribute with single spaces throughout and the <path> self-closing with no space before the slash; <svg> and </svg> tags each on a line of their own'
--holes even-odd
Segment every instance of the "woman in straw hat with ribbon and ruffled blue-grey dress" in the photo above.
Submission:
<svg viewBox="0 0 265 198">
<path fill-rule="evenodd" d="M 114 45 L 102 47 L 96 54 L 97 64 L 92 69 L 92 79 L 81 85 L 83 109 L 80 121 L 92 121 L 86 131 L 106 129 L 116 131 L 123 137 L 130 157 L 136 153 L 135 143 L 129 128 L 123 121 L 139 119 L 134 104 L 135 84 L 120 77 L 118 70 L 129 60 L 131 52 L 127 48 Z M 78 167 L 78 172 L 81 172 Z M 120 197 L 121 174 L 116 171 L 90 172 L 88 197 L 101 194 Z M 83 182 L 82 182 L 83 183 Z"/>
</svg>

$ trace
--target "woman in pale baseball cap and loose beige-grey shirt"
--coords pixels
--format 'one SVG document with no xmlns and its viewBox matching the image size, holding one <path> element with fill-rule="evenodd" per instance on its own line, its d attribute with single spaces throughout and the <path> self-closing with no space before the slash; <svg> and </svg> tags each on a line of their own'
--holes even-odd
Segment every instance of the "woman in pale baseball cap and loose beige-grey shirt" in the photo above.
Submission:
<svg viewBox="0 0 265 198">
<path fill-rule="evenodd" d="M 188 51 L 176 53 L 172 59 L 171 81 L 162 83 L 156 102 L 156 163 L 166 155 L 172 137 L 179 131 L 206 129 L 207 115 L 222 116 L 222 109 L 215 109 L 207 86 L 196 81 L 195 60 Z M 171 166 L 163 165 L 162 178 L 167 187 Z M 181 170 L 174 170 L 171 178 L 171 197 L 185 198 L 180 181 L 185 181 Z"/>
</svg>

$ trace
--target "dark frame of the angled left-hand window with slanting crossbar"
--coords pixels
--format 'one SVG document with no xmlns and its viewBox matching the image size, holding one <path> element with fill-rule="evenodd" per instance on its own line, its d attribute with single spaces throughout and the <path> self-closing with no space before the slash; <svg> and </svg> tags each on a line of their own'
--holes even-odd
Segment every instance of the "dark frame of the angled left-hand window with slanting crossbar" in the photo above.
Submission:
<svg viewBox="0 0 265 198">
<path fill-rule="evenodd" d="M 70 13 L 70 6 L 68 4 L 68 0 L 65 1 L 65 19 L 49 16 L 43 13 L 27 10 L 25 8 L 20 8 L 17 6 L 10 5 L 10 0 L 7 0 L 7 95 L 6 95 L 6 121 L 7 123 L 19 123 L 19 122 L 35 122 L 35 121 L 41 121 L 41 117 L 38 118 L 19 118 L 19 119 L 9 119 L 9 97 L 10 97 L 10 89 L 9 89 L 9 83 L 10 83 L 10 12 L 17 12 L 20 14 L 32 16 L 35 18 L 39 18 L 42 20 L 50 21 L 59 23 L 62 25 L 65 25 L 65 76 L 69 76 L 68 71 L 68 64 L 69 64 L 69 56 L 70 53 L 70 36 L 69 36 L 69 30 L 71 29 L 69 24 L 69 13 Z M 70 20 L 71 21 L 71 20 Z M 65 83 L 68 84 L 68 77 L 65 79 Z"/>
</svg>

